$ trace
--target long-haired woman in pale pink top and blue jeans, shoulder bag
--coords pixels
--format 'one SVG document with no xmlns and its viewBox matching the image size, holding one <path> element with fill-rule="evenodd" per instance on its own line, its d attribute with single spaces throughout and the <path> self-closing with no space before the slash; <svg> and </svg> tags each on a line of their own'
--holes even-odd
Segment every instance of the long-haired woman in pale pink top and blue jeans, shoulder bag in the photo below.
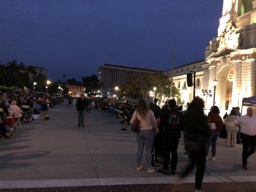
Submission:
<svg viewBox="0 0 256 192">
<path fill-rule="evenodd" d="M 146 100 L 144 99 L 139 101 L 139 104 L 133 113 L 130 123 L 133 124 L 136 119 L 140 120 L 139 132 L 136 136 L 138 144 L 136 170 L 140 171 L 142 169 L 141 161 L 145 147 L 147 173 L 154 173 L 155 169 L 151 168 L 151 149 L 153 146 L 154 133 L 156 133 L 157 125 L 154 113 L 151 109 L 148 108 Z"/>
</svg>

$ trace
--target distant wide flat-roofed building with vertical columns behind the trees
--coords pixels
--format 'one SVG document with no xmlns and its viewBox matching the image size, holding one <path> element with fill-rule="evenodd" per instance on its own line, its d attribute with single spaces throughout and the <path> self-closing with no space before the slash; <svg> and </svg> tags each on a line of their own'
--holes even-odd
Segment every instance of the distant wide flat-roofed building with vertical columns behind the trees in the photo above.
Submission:
<svg viewBox="0 0 256 192">
<path fill-rule="evenodd" d="M 98 68 L 98 72 L 99 82 L 103 85 L 101 87 L 101 95 L 115 96 L 115 87 L 125 84 L 130 77 L 140 80 L 146 72 L 154 73 L 161 71 L 105 64 Z"/>
</svg>

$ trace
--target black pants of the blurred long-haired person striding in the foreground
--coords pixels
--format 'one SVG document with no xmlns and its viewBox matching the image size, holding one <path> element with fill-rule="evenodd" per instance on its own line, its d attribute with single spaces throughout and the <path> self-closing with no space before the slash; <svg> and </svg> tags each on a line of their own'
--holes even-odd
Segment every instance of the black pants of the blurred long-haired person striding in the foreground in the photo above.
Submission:
<svg viewBox="0 0 256 192">
<path fill-rule="evenodd" d="M 204 148 L 204 147 L 203 147 Z M 202 150 L 201 152 L 190 151 L 190 164 L 185 168 L 185 171 L 182 174 L 182 177 L 185 177 L 189 174 L 189 172 L 195 167 L 196 164 L 196 172 L 195 172 L 195 189 L 201 190 L 202 182 L 204 179 L 204 173 L 206 168 L 206 150 Z"/>
</svg>

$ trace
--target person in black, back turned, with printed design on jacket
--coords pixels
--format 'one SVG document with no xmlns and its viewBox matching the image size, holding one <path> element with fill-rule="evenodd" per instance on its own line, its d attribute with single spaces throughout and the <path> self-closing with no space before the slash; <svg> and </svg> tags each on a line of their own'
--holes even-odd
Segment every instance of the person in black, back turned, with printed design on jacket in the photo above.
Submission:
<svg viewBox="0 0 256 192">
<path fill-rule="evenodd" d="M 159 173 L 165 175 L 175 175 L 178 163 L 178 144 L 180 140 L 180 130 L 183 129 L 182 113 L 176 109 L 174 99 L 168 102 L 169 110 L 160 119 L 160 129 L 164 131 L 164 160 L 163 169 L 158 169 Z M 169 172 L 171 152 L 171 172 Z"/>
</svg>

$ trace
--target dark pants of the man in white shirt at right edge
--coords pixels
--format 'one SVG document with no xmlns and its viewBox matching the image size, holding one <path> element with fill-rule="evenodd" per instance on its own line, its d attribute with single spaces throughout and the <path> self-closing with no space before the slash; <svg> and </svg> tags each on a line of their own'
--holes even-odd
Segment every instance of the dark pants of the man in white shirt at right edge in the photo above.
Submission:
<svg viewBox="0 0 256 192">
<path fill-rule="evenodd" d="M 250 136 L 241 132 L 243 143 L 243 165 L 247 165 L 247 159 L 255 152 L 256 135 Z"/>
</svg>

